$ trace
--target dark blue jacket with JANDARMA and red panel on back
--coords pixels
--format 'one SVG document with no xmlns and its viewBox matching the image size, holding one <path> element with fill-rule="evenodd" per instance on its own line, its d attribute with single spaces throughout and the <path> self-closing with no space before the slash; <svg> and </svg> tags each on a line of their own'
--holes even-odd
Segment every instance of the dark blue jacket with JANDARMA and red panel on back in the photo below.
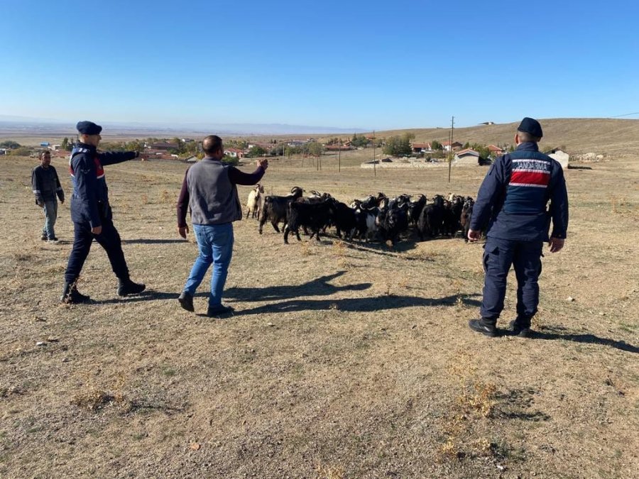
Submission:
<svg viewBox="0 0 639 479">
<path fill-rule="evenodd" d="M 550 201 L 550 207 L 546 209 Z M 500 156 L 479 188 L 470 228 L 488 225 L 487 236 L 515 241 L 547 241 L 552 219 L 555 238 L 566 238 L 568 193 L 562 166 L 540 153 L 537 143 L 521 143 Z"/>
</svg>

